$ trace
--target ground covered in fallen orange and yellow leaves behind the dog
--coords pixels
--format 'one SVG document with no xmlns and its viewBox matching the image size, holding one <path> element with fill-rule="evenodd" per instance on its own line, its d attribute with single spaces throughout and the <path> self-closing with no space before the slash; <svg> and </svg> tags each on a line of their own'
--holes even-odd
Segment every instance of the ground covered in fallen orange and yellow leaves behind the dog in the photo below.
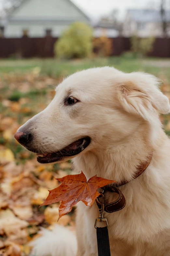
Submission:
<svg viewBox="0 0 170 256">
<path fill-rule="evenodd" d="M 163 92 L 169 97 L 166 75 Z M 42 206 L 48 190 L 59 185 L 56 178 L 72 174 L 71 163 L 40 165 L 35 154 L 24 150 L 14 133 L 29 118 L 42 111 L 54 96 L 59 78 L 41 75 L 34 67 L 29 73 L 0 76 L 0 255 L 26 256 L 29 242 L 41 227 L 52 229 L 58 220 L 59 204 Z M 167 134 L 170 117 L 161 116 Z M 75 229 L 74 209 L 59 224 Z"/>
</svg>

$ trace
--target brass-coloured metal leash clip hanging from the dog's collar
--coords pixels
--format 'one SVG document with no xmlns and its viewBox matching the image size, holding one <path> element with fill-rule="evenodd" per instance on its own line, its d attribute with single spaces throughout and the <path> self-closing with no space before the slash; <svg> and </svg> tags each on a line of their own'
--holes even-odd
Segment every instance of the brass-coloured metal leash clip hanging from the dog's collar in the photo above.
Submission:
<svg viewBox="0 0 170 256">
<path fill-rule="evenodd" d="M 104 211 L 105 211 L 105 205 L 107 204 L 107 201 L 105 200 L 105 196 L 104 196 L 104 193 L 103 192 L 99 192 L 100 193 L 100 196 L 98 196 L 96 198 L 96 203 L 97 203 L 97 206 L 99 208 L 99 213 L 100 213 L 100 217 L 96 219 L 95 221 L 95 229 L 97 229 L 97 222 L 104 222 L 106 221 L 106 225 L 107 225 L 107 229 L 108 229 L 108 222 L 107 222 L 107 219 L 104 218 Z M 100 202 L 100 198 L 102 198 L 102 202 Z"/>
</svg>

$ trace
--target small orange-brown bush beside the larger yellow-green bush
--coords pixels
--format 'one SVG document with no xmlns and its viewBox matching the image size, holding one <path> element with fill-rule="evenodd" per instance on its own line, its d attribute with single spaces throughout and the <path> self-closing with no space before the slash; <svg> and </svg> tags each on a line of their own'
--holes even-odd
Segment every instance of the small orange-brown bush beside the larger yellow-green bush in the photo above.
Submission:
<svg viewBox="0 0 170 256">
<path fill-rule="evenodd" d="M 113 44 L 110 38 L 101 36 L 99 38 L 94 38 L 93 47 L 95 53 L 97 53 L 100 57 L 105 57 L 111 55 Z"/>
</svg>

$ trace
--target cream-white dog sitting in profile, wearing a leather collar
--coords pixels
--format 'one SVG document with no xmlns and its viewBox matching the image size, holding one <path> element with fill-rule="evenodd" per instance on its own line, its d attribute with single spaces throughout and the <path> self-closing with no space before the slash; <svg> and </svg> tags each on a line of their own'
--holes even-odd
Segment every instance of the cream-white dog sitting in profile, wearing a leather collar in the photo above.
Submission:
<svg viewBox="0 0 170 256">
<path fill-rule="evenodd" d="M 74 169 L 87 179 L 97 174 L 117 182 L 131 180 L 120 187 L 125 208 L 105 213 L 112 256 L 170 255 L 170 140 L 159 120 L 159 113 L 168 113 L 170 105 L 158 86 L 157 78 L 141 72 L 126 74 L 112 67 L 83 70 L 66 78 L 50 105 L 15 135 L 37 153 L 40 163 L 76 156 Z M 148 168 L 133 180 L 137 166 L 151 152 Z M 113 197 L 114 193 L 106 193 L 108 202 Z M 98 217 L 95 203 L 91 208 L 78 204 L 77 256 L 98 255 L 94 228 Z M 67 243 L 56 241 L 56 247 Z M 59 251 L 55 249 L 56 256 Z"/>
</svg>

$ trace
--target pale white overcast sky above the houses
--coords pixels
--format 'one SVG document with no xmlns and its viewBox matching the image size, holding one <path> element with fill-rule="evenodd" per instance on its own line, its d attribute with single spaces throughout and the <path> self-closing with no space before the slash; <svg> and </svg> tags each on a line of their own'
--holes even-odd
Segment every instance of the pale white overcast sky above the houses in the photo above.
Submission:
<svg viewBox="0 0 170 256">
<path fill-rule="evenodd" d="M 2 2 L 0 0 L 0 9 Z M 134 8 L 156 8 L 160 6 L 161 0 L 71 0 L 78 7 L 96 20 L 101 16 L 107 15 L 113 9 L 119 9 L 119 18 L 122 20 L 125 16 L 126 9 Z M 165 0 L 166 5 L 170 7 L 170 0 Z"/>
</svg>

